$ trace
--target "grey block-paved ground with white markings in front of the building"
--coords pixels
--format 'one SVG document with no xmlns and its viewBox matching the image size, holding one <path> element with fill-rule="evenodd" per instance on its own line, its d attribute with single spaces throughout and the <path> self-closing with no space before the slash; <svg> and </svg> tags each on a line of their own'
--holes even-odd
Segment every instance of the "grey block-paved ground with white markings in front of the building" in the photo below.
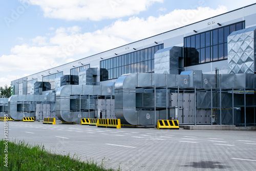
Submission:
<svg viewBox="0 0 256 171">
<path fill-rule="evenodd" d="M 9 121 L 9 139 L 121 170 L 256 170 L 255 131 L 105 129 Z M 0 138 L 4 122 L 0 122 Z"/>
</svg>

